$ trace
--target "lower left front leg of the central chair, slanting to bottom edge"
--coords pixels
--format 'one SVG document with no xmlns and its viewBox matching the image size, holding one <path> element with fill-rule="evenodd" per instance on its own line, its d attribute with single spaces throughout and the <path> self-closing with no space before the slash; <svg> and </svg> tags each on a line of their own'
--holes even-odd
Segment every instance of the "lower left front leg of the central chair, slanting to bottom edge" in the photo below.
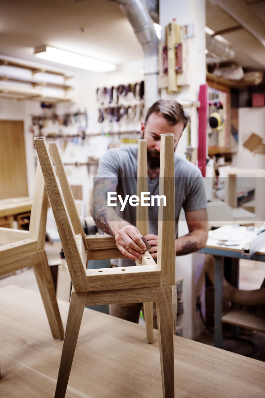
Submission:
<svg viewBox="0 0 265 398">
<path fill-rule="evenodd" d="M 64 398 L 66 393 L 87 295 L 74 291 L 71 294 L 55 398 Z"/>
</svg>

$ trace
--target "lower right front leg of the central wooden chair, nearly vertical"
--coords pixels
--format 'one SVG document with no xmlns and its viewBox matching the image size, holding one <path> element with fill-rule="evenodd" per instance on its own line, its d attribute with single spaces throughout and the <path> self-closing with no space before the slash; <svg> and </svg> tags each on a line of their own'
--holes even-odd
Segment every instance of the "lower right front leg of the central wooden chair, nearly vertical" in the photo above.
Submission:
<svg viewBox="0 0 265 398">
<path fill-rule="evenodd" d="M 172 286 L 158 287 L 156 302 L 163 398 L 174 398 Z"/>
</svg>

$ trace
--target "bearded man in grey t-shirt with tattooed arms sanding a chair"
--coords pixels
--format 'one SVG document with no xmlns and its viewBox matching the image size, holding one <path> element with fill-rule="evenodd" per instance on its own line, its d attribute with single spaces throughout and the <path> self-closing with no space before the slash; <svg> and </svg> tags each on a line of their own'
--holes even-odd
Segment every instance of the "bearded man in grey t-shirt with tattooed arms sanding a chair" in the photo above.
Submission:
<svg viewBox="0 0 265 398">
<path fill-rule="evenodd" d="M 173 100 L 156 101 L 141 122 L 141 136 L 147 144 L 148 192 L 159 195 L 160 135 L 173 134 L 174 145 L 182 135 L 188 122 L 182 106 Z M 136 207 L 127 203 L 123 211 L 107 206 L 107 192 L 117 192 L 124 198 L 136 195 L 137 145 L 109 149 L 101 159 L 94 184 L 92 216 L 97 227 L 115 236 L 117 248 L 127 258 L 112 259 L 111 266 L 135 265 L 146 251 L 146 245 L 136 228 Z M 189 233 L 178 238 L 177 225 L 183 208 Z M 176 256 L 196 252 L 207 242 L 207 200 L 201 171 L 188 160 L 175 153 L 175 252 Z M 150 255 L 157 258 L 158 206 L 148 207 L 149 234 L 145 236 L 151 246 Z M 174 289 L 173 289 L 174 291 Z M 176 292 L 173 297 L 176 319 Z M 109 313 L 113 316 L 138 323 L 142 303 L 111 304 Z M 154 307 L 154 327 L 157 328 Z M 175 322 L 174 322 L 175 324 Z M 176 326 L 176 325 L 175 325 Z M 174 331 L 175 332 L 175 331 Z"/>
</svg>

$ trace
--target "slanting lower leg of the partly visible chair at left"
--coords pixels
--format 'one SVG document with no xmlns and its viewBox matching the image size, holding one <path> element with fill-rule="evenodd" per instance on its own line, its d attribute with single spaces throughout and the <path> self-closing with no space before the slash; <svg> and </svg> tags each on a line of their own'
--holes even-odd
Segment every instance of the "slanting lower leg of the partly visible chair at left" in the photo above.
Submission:
<svg viewBox="0 0 265 398">
<path fill-rule="evenodd" d="M 39 263 L 33 265 L 33 270 L 37 279 L 37 284 L 39 286 L 51 332 L 54 338 L 63 340 L 64 328 L 62 326 L 51 270 L 45 250 L 40 250 L 38 257 Z"/>
</svg>

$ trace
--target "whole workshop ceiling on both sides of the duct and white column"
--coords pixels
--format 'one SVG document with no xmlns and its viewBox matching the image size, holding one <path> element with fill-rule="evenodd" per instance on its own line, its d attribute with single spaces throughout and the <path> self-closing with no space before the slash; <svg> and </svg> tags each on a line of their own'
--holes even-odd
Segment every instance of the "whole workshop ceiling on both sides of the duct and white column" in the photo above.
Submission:
<svg viewBox="0 0 265 398">
<path fill-rule="evenodd" d="M 265 70 L 265 0 L 207 0 L 206 25 L 215 32 L 236 27 L 222 33 L 236 53 L 233 62 Z M 34 47 L 47 44 L 115 64 L 143 58 L 129 21 L 109 0 L 1 0 L 0 43 L 2 56 L 47 65 L 55 64 L 37 60 Z"/>
</svg>

